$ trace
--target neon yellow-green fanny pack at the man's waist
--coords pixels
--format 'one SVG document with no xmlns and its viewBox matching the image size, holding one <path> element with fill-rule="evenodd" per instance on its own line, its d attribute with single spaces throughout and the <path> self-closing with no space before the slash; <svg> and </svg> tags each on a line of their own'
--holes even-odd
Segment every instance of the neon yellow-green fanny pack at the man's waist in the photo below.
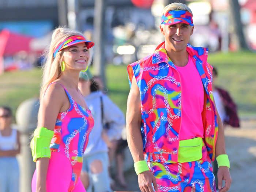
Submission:
<svg viewBox="0 0 256 192">
<path fill-rule="evenodd" d="M 203 139 L 200 137 L 181 140 L 178 150 L 178 162 L 186 163 L 202 159 Z"/>
</svg>

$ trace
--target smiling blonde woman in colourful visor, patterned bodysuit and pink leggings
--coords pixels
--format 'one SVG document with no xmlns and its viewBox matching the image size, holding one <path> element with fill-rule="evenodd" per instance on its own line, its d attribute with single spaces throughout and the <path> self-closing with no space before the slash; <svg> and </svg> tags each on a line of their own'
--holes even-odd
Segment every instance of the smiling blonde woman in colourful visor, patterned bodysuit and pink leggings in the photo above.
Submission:
<svg viewBox="0 0 256 192">
<path fill-rule="evenodd" d="M 38 127 L 31 141 L 36 170 L 33 192 L 81 192 L 82 155 L 94 125 L 78 89 L 79 72 L 88 68 L 94 45 L 68 28 L 57 28 L 46 55 Z"/>
</svg>

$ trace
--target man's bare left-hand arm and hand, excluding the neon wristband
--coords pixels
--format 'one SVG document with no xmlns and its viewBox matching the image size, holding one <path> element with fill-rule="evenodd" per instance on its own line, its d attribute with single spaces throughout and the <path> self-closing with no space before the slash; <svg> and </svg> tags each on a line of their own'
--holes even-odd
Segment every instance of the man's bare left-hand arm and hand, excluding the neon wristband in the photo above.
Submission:
<svg viewBox="0 0 256 192">
<path fill-rule="evenodd" d="M 143 142 L 140 132 L 141 119 L 141 105 L 140 92 L 133 76 L 132 86 L 127 99 L 127 113 L 126 113 L 126 131 L 127 142 L 132 154 L 134 162 L 143 161 Z M 156 179 L 150 171 L 142 172 L 138 175 L 139 187 L 142 192 L 153 192 L 152 183 L 155 191 L 157 191 Z"/>
</svg>

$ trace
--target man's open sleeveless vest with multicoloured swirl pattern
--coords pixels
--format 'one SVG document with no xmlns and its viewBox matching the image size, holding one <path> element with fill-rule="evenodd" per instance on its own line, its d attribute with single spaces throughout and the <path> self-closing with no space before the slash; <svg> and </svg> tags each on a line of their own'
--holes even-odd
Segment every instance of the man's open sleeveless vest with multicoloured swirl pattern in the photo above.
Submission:
<svg viewBox="0 0 256 192">
<path fill-rule="evenodd" d="M 204 143 L 212 161 L 218 135 L 217 112 L 212 95 L 212 67 L 208 49 L 187 45 L 204 87 L 202 120 Z M 144 158 L 153 162 L 177 162 L 181 127 L 181 79 L 167 56 L 165 42 L 153 55 L 128 65 L 129 83 L 135 76 L 141 98 L 141 133 Z M 191 87 L 193 89 L 193 87 Z"/>
</svg>

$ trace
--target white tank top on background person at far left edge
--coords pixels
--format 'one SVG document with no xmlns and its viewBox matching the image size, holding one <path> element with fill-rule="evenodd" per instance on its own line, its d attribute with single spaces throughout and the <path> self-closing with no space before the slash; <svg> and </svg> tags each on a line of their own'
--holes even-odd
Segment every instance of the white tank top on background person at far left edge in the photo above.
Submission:
<svg viewBox="0 0 256 192">
<path fill-rule="evenodd" d="M 12 129 L 10 136 L 2 136 L 0 132 L 0 150 L 14 150 L 17 148 L 17 130 Z"/>
</svg>

